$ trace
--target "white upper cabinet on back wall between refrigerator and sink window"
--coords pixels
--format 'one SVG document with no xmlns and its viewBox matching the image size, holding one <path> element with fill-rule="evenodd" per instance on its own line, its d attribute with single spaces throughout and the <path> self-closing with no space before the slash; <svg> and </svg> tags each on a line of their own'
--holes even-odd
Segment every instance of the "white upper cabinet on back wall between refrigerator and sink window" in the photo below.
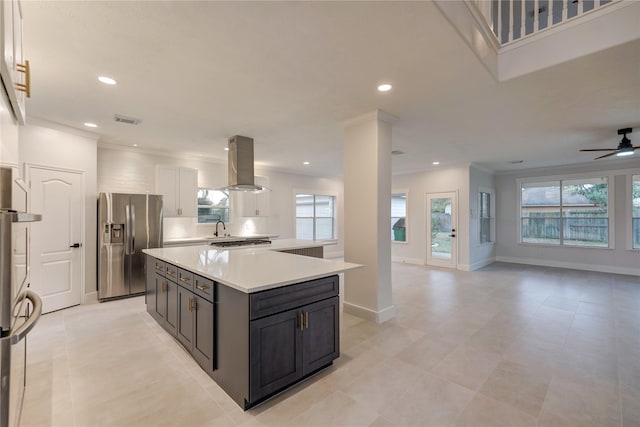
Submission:
<svg viewBox="0 0 640 427">
<path fill-rule="evenodd" d="M 197 169 L 157 166 L 156 191 L 163 196 L 165 217 L 198 215 Z"/>
</svg>

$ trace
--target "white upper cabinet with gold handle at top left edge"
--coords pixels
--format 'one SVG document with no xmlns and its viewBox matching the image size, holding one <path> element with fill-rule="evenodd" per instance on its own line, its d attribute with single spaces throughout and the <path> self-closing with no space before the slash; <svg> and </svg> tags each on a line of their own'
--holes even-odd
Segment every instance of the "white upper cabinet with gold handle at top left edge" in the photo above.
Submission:
<svg viewBox="0 0 640 427">
<path fill-rule="evenodd" d="M 24 124 L 25 100 L 30 91 L 29 63 L 22 51 L 22 7 L 19 0 L 0 1 L 0 76 L 11 109 Z M 1 90 L 1 89 L 0 89 Z"/>
</svg>

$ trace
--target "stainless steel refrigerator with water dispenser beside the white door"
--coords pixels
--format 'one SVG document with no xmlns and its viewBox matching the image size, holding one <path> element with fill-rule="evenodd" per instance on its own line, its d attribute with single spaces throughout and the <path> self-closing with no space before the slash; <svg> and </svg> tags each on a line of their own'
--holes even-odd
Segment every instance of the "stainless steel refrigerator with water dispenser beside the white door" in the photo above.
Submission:
<svg viewBox="0 0 640 427">
<path fill-rule="evenodd" d="M 144 293 L 143 249 L 162 247 L 162 196 L 100 193 L 98 300 Z"/>
</svg>

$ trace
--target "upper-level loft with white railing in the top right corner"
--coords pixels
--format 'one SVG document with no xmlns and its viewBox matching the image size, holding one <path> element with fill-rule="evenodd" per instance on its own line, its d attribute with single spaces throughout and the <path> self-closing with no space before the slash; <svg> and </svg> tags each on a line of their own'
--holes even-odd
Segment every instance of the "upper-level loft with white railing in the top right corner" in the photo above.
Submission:
<svg viewBox="0 0 640 427">
<path fill-rule="evenodd" d="M 498 81 L 640 39 L 636 0 L 435 0 Z"/>
</svg>

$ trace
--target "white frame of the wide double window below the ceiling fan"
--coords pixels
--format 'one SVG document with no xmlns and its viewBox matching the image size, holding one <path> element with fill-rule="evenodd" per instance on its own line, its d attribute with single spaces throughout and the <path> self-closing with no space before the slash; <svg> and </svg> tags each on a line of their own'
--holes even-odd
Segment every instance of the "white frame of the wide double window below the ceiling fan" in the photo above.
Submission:
<svg viewBox="0 0 640 427">
<path fill-rule="evenodd" d="M 600 250 L 613 250 L 615 249 L 615 175 L 619 175 L 622 171 L 593 171 L 578 174 L 566 174 L 566 175 L 549 175 L 549 176 L 535 176 L 527 178 L 516 179 L 516 192 L 517 192 L 517 229 L 518 229 L 518 244 L 523 246 L 535 246 L 535 247 L 552 247 L 552 248 L 577 248 L 577 249 L 600 249 Z M 551 182 L 558 181 L 560 185 L 560 193 L 562 197 L 563 181 L 573 181 L 579 179 L 594 179 L 594 178 L 606 178 L 607 179 L 607 220 L 608 220 L 608 246 L 582 246 L 571 245 L 564 243 L 563 236 L 560 238 L 560 243 L 533 243 L 522 241 L 522 185 L 536 182 Z M 560 201 L 560 219 L 562 217 L 562 199 Z"/>
</svg>

